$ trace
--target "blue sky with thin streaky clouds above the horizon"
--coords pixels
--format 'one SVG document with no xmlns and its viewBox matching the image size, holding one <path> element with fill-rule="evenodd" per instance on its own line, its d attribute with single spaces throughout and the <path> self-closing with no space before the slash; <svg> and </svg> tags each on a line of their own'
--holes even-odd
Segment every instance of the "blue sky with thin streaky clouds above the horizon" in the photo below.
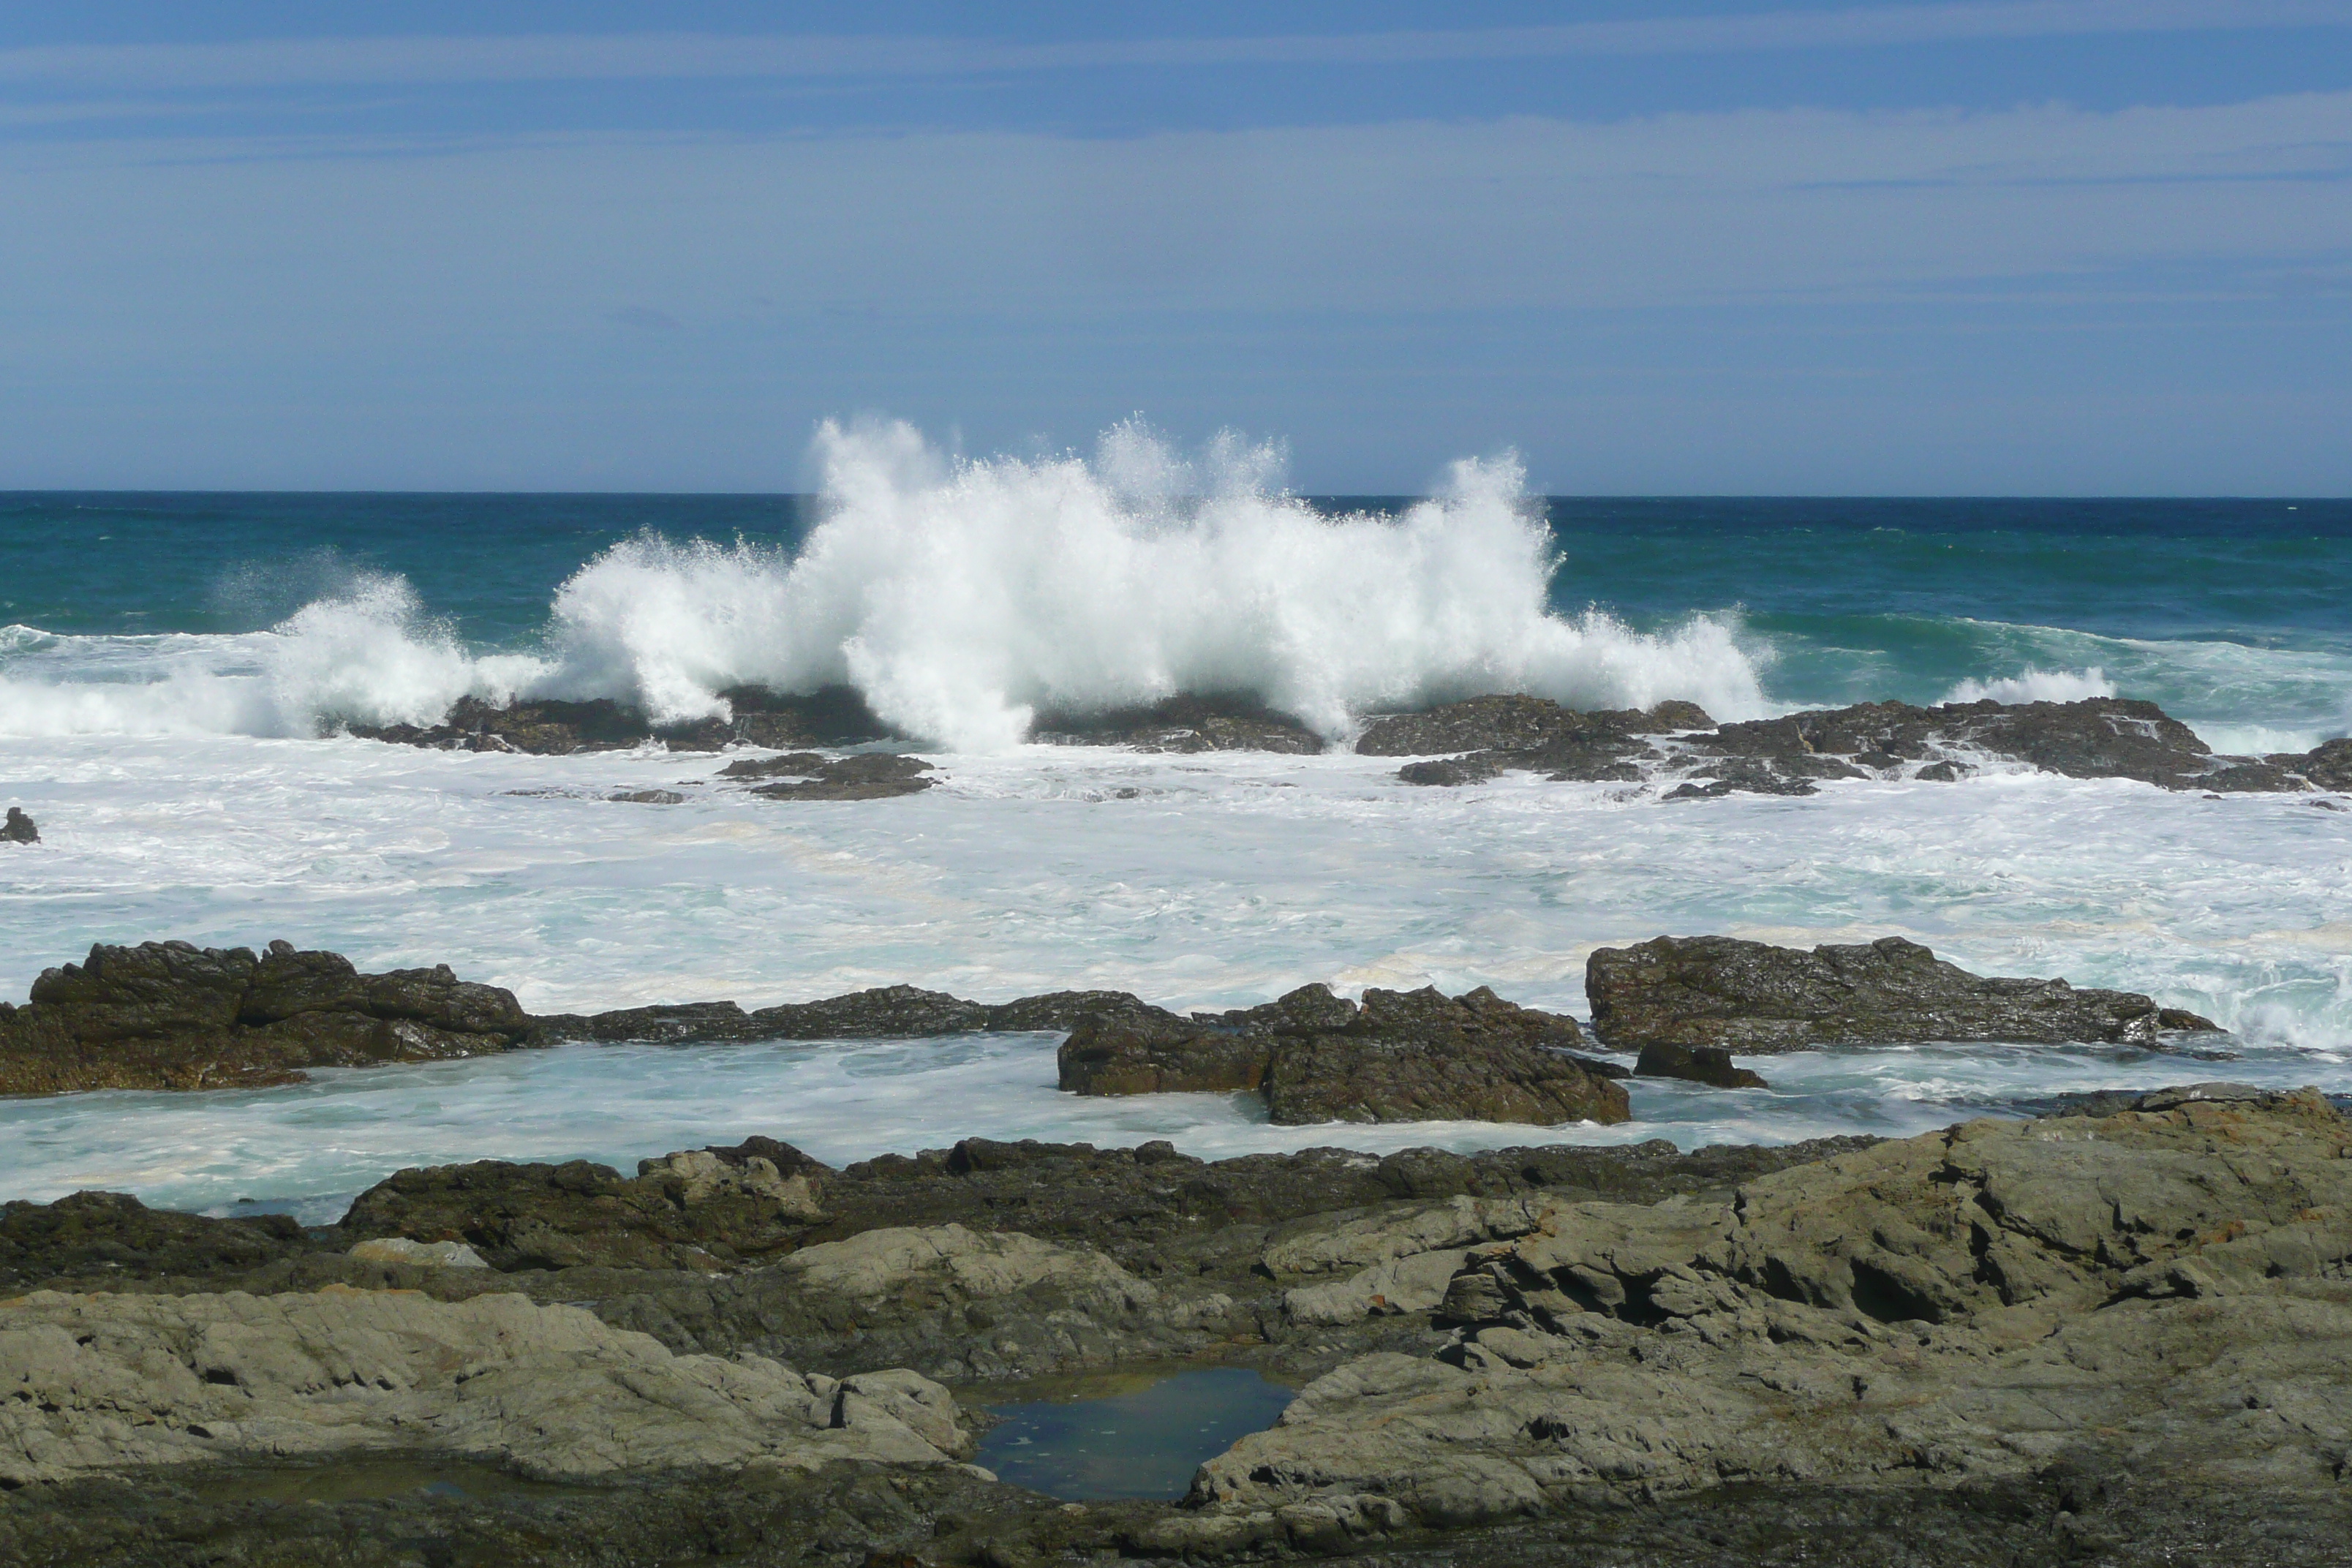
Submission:
<svg viewBox="0 0 2352 1568">
<path fill-rule="evenodd" d="M 0 12 L 0 489 L 2352 494 L 2352 0 Z"/>
</svg>

